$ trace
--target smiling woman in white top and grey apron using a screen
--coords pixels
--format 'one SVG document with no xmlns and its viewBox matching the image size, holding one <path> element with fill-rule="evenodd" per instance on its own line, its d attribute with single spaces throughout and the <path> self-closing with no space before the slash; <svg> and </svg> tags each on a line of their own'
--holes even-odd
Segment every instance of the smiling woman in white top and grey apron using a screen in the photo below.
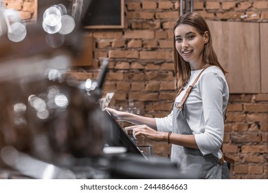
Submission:
<svg viewBox="0 0 268 193">
<path fill-rule="evenodd" d="M 133 128 L 135 137 L 172 143 L 171 161 L 179 172 L 197 179 L 221 179 L 219 161 L 229 99 L 225 70 L 212 48 L 208 24 L 199 14 L 179 17 L 173 32 L 179 92 L 172 112 L 164 118 L 148 118 L 107 110 L 118 120 L 134 123 L 129 129 Z"/>
</svg>

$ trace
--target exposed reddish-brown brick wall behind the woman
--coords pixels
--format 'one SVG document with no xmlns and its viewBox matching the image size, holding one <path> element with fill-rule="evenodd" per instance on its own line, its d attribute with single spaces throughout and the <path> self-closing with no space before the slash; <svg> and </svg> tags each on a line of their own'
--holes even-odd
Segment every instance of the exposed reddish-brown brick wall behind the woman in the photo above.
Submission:
<svg viewBox="0 0 268 193">
<path fill-rule="evenodd" d="M 71 68 L 70 74 L 94 79 L 109 57 L 103 94 L 115 92 L 115 108 L 128 110 L 133 99 L 139 113 L 165 116 L 175 96 L 172 26 L 179 6 L 175 0 L 125 0 L 125 28 L 87 31 L 93 34 L 93 65 Z M 196 0 L 194 11 L 208 20 L 268 21 L 267 0 Z M 233 179 L 268 179 L 268 94 L 230 94 L 224 141 L 223 150 L 236 160 Z M 170 152 L 166 143 L 139 143 L 152 144 L 155 155 Z"/>
</svg>

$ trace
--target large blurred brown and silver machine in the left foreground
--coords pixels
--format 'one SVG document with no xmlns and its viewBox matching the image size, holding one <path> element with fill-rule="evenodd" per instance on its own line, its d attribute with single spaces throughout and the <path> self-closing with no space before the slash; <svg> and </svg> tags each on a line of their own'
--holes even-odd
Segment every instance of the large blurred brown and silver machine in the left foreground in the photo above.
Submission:
<svg viewBox="0 0 268 193">
<path fill-rule="evenodd" d="M 62 37 L 39 27 L 21 42 L 0 37 L 0 179 L 191 178 L 168 159 L 104 154 L 111 123 L 97 101 L 106 68 L 92 92 L 67 79 L 82 30 L 55 48 Z"/>
</svg>

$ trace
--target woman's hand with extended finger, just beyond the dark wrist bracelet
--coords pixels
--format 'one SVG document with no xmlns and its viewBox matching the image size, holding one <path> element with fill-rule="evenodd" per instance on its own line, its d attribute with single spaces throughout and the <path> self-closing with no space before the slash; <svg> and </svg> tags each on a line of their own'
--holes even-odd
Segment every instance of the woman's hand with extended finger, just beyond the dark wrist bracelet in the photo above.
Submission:
<svg viewBox="0 0 268 193">
<path fill-rule="evenodd" d="M 149 128 L 147 125 L 133 125 L 124 129 L 133 130 L 133 137 L 135 139 L 142 136 L 153 141 L 167 141 L 168 139 L 166 132 L 157 132 L 156 130 Z"/>
</svg>

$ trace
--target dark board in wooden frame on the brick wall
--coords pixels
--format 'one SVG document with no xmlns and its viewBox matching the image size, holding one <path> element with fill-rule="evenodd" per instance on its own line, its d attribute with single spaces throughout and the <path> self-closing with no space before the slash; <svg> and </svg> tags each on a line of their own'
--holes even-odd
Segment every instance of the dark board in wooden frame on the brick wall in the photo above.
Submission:
<svg viewBox="0 0 268 193">
<path fill-rule="evenodd" d="M 86 29 L 124 28 L 124 0 L 91 0 L 82 25 Z"/>
</svg>

